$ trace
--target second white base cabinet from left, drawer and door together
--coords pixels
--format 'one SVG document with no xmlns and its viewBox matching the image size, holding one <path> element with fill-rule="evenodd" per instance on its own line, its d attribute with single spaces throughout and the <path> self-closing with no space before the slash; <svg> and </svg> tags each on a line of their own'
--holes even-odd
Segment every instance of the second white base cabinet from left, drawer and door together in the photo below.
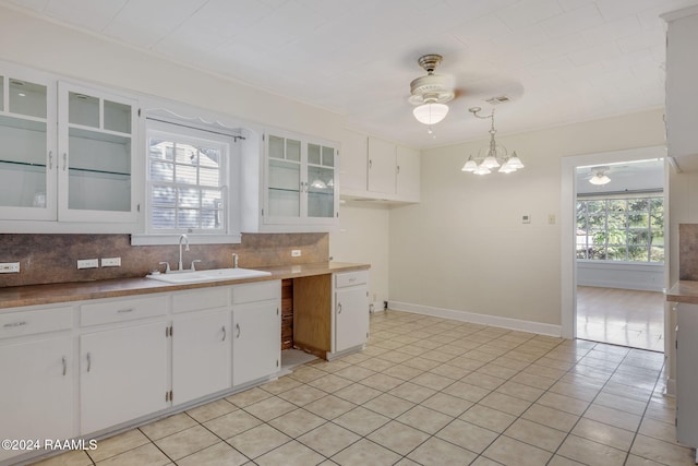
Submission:
<svg viewBox="0 0 698 466">
<path fill-rule="evenodd" d="M 87 434 L 169 406 L 168 296 L 80 306 L 80 419 Z"/>
</svg>

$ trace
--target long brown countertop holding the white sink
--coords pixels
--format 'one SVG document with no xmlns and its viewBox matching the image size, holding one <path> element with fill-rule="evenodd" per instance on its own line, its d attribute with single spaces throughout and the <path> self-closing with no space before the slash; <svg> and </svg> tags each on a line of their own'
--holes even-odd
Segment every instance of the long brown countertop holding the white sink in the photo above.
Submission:
<svg viewBox="0 0 698 466">
<path fill-rule="evenodd" d="M 77 283 L 59 283 L 48 285 L 13 286 L 0 288 L 0 309 L 16 308 L 22 306 L 82 301 L 87 299 L 116 298 L 132 295 L 147 295 L 152 292 L 177 291 L 181 289 L 207 288 L 212 286 L 297 278 L 313 275 L 332 274 L 335 272 L 351 272 L 369 268 L 371 268 L 370 264 L 356 264 L 349 262 L 322 262 L 316 264 L 255 267 L 255 270 L 258 271 L 270 272 L 272 275 L 264 277 L 206 282 L 196 284 L 167 284 L 152 278 L 142 277 Z"/>
</svg>

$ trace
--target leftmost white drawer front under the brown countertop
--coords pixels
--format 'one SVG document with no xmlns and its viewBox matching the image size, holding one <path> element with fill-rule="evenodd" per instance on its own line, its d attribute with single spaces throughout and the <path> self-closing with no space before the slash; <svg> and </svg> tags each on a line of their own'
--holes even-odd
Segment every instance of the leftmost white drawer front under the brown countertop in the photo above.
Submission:
<svg viewBox="0 0 698 466">
<path fill-rule="evenodd" d="M 56 332 L 73 326 L 73 308 L 0 313 L 0 338 Z"/>
</svg>

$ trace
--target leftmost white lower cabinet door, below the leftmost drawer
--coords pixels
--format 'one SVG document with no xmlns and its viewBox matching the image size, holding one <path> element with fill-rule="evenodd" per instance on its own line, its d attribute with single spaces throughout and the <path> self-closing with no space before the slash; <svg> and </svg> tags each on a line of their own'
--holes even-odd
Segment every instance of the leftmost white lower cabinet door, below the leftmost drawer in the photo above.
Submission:
<svg viewBox="0 0 698 466">
<path fill-rule="evenodd" d="M 1 343 L 0 438 L 40 441 L 75 437 L 73 337 Z M 27 450 L 0 449 L 0 462 Z"/>
</svg>

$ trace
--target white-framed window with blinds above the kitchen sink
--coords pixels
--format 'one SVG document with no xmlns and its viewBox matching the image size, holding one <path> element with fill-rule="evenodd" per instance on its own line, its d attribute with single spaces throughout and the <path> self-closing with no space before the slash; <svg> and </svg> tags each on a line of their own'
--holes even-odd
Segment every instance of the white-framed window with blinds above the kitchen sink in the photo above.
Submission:
<svg viewBox="0 0 698 466">
<path fill-rule="evenodd" d="M 156 120 L 146 129 L 146 235 L 231 234 L 236 136 Z"/>
</svg>

